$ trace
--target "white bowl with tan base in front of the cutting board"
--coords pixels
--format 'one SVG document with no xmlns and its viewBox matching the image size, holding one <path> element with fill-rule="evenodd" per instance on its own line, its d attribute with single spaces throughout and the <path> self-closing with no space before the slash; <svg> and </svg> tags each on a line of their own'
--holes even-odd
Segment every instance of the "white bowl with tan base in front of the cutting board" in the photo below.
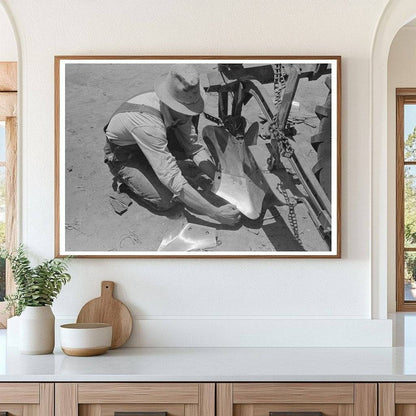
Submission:
<svg viewBox="0 0 416 416">
<path fill-rule="evenodd" d="M 61 325 L 61 348 L 78 357 L 104 354 L 111 347 L 113 328 L 109 324 Z"/>
</svg>

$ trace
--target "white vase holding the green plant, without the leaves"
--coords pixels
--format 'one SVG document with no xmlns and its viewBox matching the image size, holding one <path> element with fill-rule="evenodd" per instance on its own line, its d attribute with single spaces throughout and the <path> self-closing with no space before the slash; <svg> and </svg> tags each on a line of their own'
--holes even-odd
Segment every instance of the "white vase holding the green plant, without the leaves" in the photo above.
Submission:
<svg viewBox="0 0 416 416">
<path fill-rule="evenodd" d="M 50 306 L 26 306 L 19 319 L 21 354 L 50 354 L 55 347 L 55 316 Z"/>
</svg>

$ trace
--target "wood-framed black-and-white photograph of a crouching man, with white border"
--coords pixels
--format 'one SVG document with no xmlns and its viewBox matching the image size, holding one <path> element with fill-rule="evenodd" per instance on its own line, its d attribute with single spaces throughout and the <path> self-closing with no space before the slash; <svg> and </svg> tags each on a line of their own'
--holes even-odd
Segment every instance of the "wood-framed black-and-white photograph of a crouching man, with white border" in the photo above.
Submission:
<svg viewBox="0 0 416 416">
<path fill-rule="evenodd" d="M 339 56 L 57 56 L 55 91 L 57 257 L 340 257 Z"/>
</svg>

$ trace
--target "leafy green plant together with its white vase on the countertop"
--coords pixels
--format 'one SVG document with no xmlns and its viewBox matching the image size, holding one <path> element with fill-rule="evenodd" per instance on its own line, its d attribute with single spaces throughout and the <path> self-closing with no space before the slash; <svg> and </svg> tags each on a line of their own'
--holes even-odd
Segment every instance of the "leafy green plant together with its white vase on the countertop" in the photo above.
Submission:
<svg viewBox="0 0 416 416">
<path fill-rule="evenodd" d="M 51 259 L 32 266 L 23 246 L 1 250 L 10 261 L 16 292 L 6 296 L 8 309 L 19 318 L 19 351 L 49 354 L 55 346 L 55 316 L 51 305 L 71 276 L 65 259 Z"/>
</svg>

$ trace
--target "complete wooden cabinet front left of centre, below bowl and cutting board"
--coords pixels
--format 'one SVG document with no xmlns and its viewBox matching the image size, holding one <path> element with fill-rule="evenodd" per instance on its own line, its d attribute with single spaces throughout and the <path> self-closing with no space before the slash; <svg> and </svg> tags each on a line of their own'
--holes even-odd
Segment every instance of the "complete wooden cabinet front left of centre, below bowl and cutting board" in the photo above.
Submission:
<svg viewBox="0 0 416 416">
<path fill-rule="evenodd" d="M 61 383 L 56 416 L 215 416 L 213 383 Z"/>
</svg>

